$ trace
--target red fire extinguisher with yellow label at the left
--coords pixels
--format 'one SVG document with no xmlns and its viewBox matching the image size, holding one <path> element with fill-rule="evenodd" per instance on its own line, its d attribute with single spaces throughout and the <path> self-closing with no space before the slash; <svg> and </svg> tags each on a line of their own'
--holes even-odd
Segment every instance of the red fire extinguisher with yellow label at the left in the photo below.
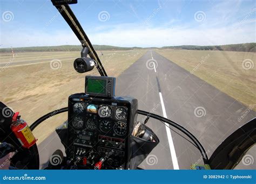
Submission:
<svg viewBox="0 0 256 184">
<path fill-rule="evenodd" d="M 21 119 L 19 112 L 12 117 L 11 130 L 24 148 L 30 148 L 36 144 L 36 138 L 32 134 L 26 121 Z"/>
</svg>

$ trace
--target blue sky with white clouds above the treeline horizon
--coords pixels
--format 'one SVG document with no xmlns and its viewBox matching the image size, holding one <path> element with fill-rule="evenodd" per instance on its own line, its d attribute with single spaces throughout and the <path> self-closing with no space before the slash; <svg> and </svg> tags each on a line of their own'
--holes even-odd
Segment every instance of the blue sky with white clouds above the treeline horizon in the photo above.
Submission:
<svg viewBox="0 0 256 184">
<path fill-rule="evenodd" d="M 0 0 L 0 48 L 79 45 L 50 0 Z M 92 44 L 224 45 L 256 42 L 256 1 L 78 0 Z"/>
</svg>

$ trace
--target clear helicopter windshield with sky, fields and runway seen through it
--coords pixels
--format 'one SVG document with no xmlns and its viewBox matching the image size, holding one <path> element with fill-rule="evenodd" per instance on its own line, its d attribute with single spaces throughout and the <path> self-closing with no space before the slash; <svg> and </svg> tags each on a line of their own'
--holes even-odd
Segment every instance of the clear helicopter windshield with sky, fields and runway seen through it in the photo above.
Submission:
<svg viewBox="0 0 256 184">
<path fill-rule="evenodd" d="M 116 77 L 116 96 L 132 96 L 139 110 L 184 126 L 209 158 L 256 117 L 255 2 L 79 1 L 70 6 L 107 75 Z M 71 94 L 84 92 L 86 75 L 100 76 L 96 67 L 87 73 L 73 70 L 82 46 L 51 2 L 1 1 L 1 15 L 0 99 L 29 125 L 68 106 Z M 33 131 L 41 158 L 50 157 L 52 145 L 61 147 L 55 128 L 67 118 L 58 114 Z M 147 126 L 160 142 L 141 168 L 190 169 L 203 163 L 178 130 L 154 119 Z M 237 168 L 255 169 L 255 153 L 254 146 Z"/>
</svg>

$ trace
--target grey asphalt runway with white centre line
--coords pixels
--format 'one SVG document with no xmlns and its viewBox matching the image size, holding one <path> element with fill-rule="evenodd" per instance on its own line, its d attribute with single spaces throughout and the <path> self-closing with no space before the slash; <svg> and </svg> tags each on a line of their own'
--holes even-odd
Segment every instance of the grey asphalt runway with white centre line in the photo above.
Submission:
<svg viewBox="0 0 256 184">
<path fill-rule="evenodd" d="M 256 117 L 248 107 L 154 51 L 147 51 L 117 77 L 116 96 L 137 98 L 139 110 L 159 114 L 184 126 L 201 142 L 209 158 L 228 135 Z M 139 116 L 138 120 L 143 118 Z M 139 167 L 190 169 L 191 163 L 203 163 L 197 148 L 181 137 L 179 131 L 170 130 L 154 119 L 149 119 L 146 125 L 157 134 L 160 143 Z M 56 133 L 38 145 L 42 166 L 58 147 Z M 254 160 L 255 149 L 253 146 L 248 151 Z M 255 166 L 240 163 L 237 168 L 255 169 Z"/>
</svg>

